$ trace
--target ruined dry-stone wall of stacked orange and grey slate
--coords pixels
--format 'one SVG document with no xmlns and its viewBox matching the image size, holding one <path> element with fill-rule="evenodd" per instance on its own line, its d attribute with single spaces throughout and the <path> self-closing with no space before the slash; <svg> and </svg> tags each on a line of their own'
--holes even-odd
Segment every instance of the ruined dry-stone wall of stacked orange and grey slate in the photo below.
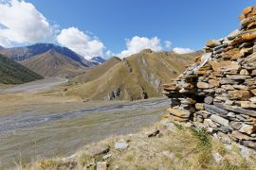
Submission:
<svg viewBox="0 0 256 170">
<path fill-rule="evenodd" d="M 201 59 L 164 85 L 172 100 L 166 117 L 256 149 L 256 7 L 239 18 L 240 29 L 207 42 Z"/>
</svg>

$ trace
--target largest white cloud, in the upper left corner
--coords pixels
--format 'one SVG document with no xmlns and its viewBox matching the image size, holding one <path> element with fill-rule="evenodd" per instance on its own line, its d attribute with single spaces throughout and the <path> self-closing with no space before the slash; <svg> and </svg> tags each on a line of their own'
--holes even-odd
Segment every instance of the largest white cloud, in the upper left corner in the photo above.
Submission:
<svg viewBox="0 0 256 170">
<path fill-rule="evenodd" d="M 43 42 L 53 32 L 46 17 L 23 0 L 0 1 L 0 25 L 0 45 Z"/>
</svg>

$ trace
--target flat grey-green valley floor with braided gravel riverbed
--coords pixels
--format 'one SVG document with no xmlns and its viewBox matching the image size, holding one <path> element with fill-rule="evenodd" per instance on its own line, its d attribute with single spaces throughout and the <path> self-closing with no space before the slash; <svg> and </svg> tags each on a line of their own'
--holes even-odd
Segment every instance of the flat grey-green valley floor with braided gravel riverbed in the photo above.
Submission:
<svg viewBox="0 0 256 170">
<path fill-rule="evenodd" d="M 84 144 L 136 132 L 159 120 L 170 102 L 82 102 L 44 93 L 0 94 L 1 168 L 68 156 Z"/>
</svg>

